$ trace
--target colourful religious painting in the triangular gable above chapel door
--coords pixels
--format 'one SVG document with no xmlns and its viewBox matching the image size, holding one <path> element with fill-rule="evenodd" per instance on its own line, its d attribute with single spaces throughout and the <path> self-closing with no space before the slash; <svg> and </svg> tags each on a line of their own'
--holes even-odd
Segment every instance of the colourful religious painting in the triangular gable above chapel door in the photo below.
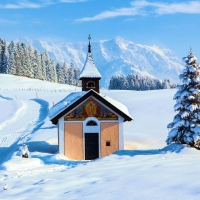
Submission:
<svg viewBox="0 0 200 200">
<path fill-rule="evenodd" d="M 118 120 L 118 116 L 89 97 L 85 103 L 64 117 L 65 121 L 85 120 L 96 117 L 98 120 Z"/>
</svg>

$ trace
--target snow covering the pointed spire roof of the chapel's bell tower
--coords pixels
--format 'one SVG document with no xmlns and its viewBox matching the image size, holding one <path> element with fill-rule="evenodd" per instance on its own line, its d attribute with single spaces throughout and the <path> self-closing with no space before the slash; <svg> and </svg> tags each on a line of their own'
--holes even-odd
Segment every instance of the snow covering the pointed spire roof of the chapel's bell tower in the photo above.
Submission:
<svg viewBox="0 0 200 200">
<path fill-rule="evenodd" d="M 101 78 L 101 74 L 94 64 L 94 60 L 92 58 L 92 53 L 88 52 L 85 65 L 79 75 L 79 79 L 81 78 Z"/>
</svg>

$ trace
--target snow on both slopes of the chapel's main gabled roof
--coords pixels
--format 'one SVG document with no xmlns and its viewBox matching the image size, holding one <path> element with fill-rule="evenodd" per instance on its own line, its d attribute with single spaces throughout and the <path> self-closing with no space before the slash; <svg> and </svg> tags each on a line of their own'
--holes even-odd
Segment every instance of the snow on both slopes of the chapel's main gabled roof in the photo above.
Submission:
<svg viewBox="0 0 200 200">
<path fill-rule="evenodd" d="M 66 96 L 63 100 L 61 100 L 60 102 L 55 104 L 49 110 L 49 118 L 50 118 L 50 120 L 53 119 L 54 117 L 56 117 L 59 113 L 61 113 L 66 108 L 68 108 L 70 105 L 72 105 L 79 98 L 81 98 L 82 96 L 87 94 L 89 91 L 73 92 L 73 93 L 69 94 L 68 96 Z M 93 91 L 93 92 L 95 92 L 95 91 Z M 97 92 L 95 92 L 95 93 L 97 93 Z M 128 109 L 127 109 L 127 107 L 125 105 L 123 105 L 122 103 L 120 103 L 120 102 L 118 102 L 118 101 L 116 101 L 116 100 L 114 100 L 114 99 L 112 99 L 112 98 L 110 98 L 108 96 L 104 96 L 104 95 L 99 94 L 99 93 L 97 93 L 97 94 L 100 95 L 107 102 L 111 103 L 113 106 L 115 106 L 116 108 L 121 110 L 124 114 L 126 114 L 127 116 L 129 116 L 132 119 L 132 117 L 129 114 L 129 111 L 128 111 Z"/>
</svg>

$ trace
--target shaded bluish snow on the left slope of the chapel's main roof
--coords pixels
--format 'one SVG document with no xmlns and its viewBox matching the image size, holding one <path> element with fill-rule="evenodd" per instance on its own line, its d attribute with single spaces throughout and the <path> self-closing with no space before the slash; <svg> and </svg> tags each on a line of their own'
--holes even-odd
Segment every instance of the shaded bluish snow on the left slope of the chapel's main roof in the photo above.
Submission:
<svg viewBox="0 0 200 200">
<path fill-rule="evenodd" d="M 88 91 L 84 92 L 72 92 L 68 96 L 66 96 L 63 100 L 59 101 L 49 110 L 49 118 L 53 119 L 57 114 L 61 113 L 75 101 L 77 101 L 80 97 L 86 94 Z"/>
</svg>

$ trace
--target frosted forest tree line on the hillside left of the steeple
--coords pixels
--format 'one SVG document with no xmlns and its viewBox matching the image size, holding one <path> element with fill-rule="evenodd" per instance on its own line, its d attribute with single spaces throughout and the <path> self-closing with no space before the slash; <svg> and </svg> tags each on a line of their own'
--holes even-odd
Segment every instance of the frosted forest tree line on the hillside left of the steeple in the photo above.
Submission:
<svg viewBox="0 0 200 200">
<path fill-rule="evenodd" d="M 0 73 L 80 86 L 79 68 L 73 63 L 55 63 L 47 50 L 40 53 L 32 45 L 0 38 Z"/>
</svg>

